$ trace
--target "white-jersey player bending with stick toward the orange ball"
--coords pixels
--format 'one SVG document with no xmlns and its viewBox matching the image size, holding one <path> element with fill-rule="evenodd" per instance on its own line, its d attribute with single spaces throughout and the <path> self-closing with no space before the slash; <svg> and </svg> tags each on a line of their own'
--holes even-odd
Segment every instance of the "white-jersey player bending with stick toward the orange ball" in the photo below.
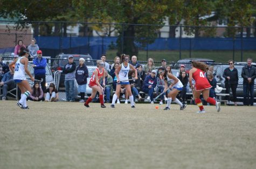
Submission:
<svg viewBox="0 0 256 169">
<path fill-rule="evenodd" d="M 164 108 L 164 110 L 169 110 L 171 105 L 171 100 L 174 100 L 176 104 L 181 106 L 181 110 L 184 110 L 186 108 L 186 104 L 182 104 L 181 101 L 179 101 L 176 96 L 178 92 L 182 91 L 183 84 L 181 83 L 181 80 L 179 80 L 177 77 L 172 75 L 171 73 L 168 73 L 165 68 L 158 68 L 158 74 L 164 79 L 164 91 L 167 91 L 168 89 L 172 89 L 168 93 L 168 99 L 167 99 L 167 107 Z M 168 86 L 168 83 L 170 86 Z"/>
</svg>

